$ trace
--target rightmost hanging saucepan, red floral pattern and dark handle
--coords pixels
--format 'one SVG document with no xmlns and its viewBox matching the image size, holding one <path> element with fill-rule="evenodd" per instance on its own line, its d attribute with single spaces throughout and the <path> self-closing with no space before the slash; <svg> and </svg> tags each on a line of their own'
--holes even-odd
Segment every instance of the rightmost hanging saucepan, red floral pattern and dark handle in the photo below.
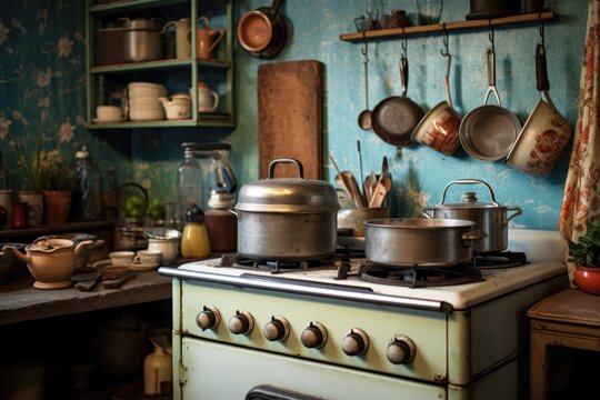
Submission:
<svg viewBox="0 0 600 400">
<path fill-rule="evenodd" d="M 514 169 L 536 177 L 550 173 L 572 136 L 569 122 L 558 111 L 548 89 L 546 48 L 536 48 L 536 78 L 541 98 L 527 119 L 523 129 L 512 146 L 507 163 Z"/>
</svg>

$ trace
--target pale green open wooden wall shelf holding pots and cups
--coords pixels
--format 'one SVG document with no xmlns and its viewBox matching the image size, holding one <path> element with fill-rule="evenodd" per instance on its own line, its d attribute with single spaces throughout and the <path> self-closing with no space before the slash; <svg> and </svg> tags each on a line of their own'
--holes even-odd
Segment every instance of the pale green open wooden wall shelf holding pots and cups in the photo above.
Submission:
<svg viewBox="0 0 600 400">
<path fill-rule="evenodd" d="M 87 0 L 87 127 L 88 129 L 170 128 L 170 127 L 234 127 L 233 71 L 233 1 L 232 0 Z M 162 57 L 158 60 L 123 62 L 123 18 L 157 20 L 161 26 L 182 18 L 191 20 L 196 31 L 198 19 L 207 17 L 210 29 L 223 29 L 223 39 L 214 47 L 210 60 L 198 59 L 197 36 L 189 34 L 189 59 L 178 59 L 174 31 L 160 34 Z M 198 24 L 199 26 L 199 24 Z M 202 26 L 204 27 L 204 26 Z M 106 36 L 112 29 L 117 33 Z M 99 33 L 102 41 L 99 42 Z M 103 53 L 99 54 L 100 49 Z M 99 62 L 99 56 L 102 57 Z M 108 60 L 109 63 L 106 63 Z M 173 93 L 190 93 L 192 112 L 189 119 L 137 120 L 98 122 L 98 106 L 123 103 L 127 114 L 127 86 L 130 82 L 154 82 Z M 219 96 L 214 112 L 197 112 L 198 86 L 207 83 Z"/>
</svg>

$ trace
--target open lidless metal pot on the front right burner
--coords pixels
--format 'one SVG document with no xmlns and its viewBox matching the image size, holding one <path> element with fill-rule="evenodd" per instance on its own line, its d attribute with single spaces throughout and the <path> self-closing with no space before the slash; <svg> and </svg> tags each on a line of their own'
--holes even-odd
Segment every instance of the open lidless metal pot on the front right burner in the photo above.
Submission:
<svg viewBox="0 0 600 400">
<path fill-rule="evenodd" d="M 452 267 L 471 260 L 486 232 L 458 219 L 387 218 L 364 221 L 367 260 L 389 267 Z"/>
</svg>

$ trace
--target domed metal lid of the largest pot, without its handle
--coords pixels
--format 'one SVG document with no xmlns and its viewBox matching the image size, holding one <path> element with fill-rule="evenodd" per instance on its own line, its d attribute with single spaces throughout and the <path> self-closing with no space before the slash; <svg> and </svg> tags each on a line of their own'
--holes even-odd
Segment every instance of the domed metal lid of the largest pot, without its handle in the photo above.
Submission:
<svg viewBox="0 0 600 400">
<path fill-rule="evenodd" d="M 250 182 L 238 194 L 239 211 L 326 212 L 340 209 L 336 190 L 321 180 L 276 178 Z"/>
</svg>

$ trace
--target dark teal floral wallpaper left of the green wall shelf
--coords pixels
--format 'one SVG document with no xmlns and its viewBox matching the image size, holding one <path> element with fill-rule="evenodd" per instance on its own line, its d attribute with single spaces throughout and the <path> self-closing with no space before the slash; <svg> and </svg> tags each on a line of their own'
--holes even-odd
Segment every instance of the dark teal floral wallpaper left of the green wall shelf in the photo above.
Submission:
<svg viewBox="0 0 600 400">
<path fill-rule="evenodd" d="M 26 173 L 38 150 L 73 166 L 76 151 L 87 146 L 106 174 L 116 163 L 127 173 L 129 154 L 84 126 L 84 10 L 81 0 L 0 4 L 0 152 L 11 189 L 38 189 Z"/>
</svg>

